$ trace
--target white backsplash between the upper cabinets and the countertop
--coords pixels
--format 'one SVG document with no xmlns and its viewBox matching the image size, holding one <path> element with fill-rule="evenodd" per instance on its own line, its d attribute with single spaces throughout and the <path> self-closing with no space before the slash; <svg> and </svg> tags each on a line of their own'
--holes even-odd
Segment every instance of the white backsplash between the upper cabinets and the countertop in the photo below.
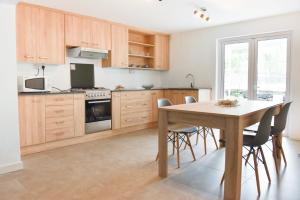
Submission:
<svg viewBox="0 0 300 200">
<path fill-rule="evenodd" d="M 114 89 L 121 84 L 126 88 L 140 88 L 143 84 L 154 84 L 161 87 L 161 74 L 157 71 L 143 71 L 127 69 L 107 69 L 102 68 L 98 60 L 68 58 L 65 65 L 45 65 L 45 76 L 49 78 L 49 84 L 59 89 L 70 88 L 70 64 L 69 63 L 89 63 L 95 66 L 95 86 Z M 18 64 L 18 75 L 37 75 L 38 66 L 26 63 Z M 40 68 L 39 74 L 42 75 Z"/>
</svg>

